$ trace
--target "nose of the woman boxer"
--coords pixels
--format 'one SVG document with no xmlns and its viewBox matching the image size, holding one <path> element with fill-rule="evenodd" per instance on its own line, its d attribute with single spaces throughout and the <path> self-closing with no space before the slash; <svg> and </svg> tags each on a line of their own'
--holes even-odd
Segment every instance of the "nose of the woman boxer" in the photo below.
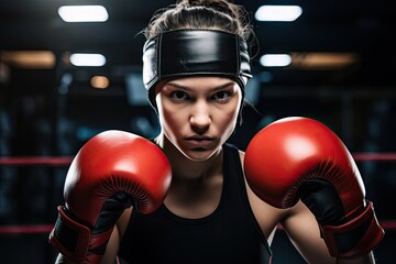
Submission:
<svg viewBox="0 0 396 264">
<path fill-rule="evenodd" d="M 196 133 L 204 134 L 211 123 L 209 106 L 201 101 L 195 103 L 189 122 Z"/>
</svg>

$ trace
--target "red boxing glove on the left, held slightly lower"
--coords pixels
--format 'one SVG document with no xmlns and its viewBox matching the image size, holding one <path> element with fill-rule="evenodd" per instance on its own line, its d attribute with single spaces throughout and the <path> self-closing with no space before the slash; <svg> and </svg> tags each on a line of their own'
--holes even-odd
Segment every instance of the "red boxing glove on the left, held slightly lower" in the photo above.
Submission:
<svg viewBox="0 0 396 264">
<path fill-rule="evenodd" d="M 89 140 L 66 176 L 65 206 L 50 243 L 74 263 L 100 263 L 113 227 L 134 202 L 150 213 L 165 199 L 170 165 L 154 143 L 132 133 L 106 131 Z"/>
</svg>

